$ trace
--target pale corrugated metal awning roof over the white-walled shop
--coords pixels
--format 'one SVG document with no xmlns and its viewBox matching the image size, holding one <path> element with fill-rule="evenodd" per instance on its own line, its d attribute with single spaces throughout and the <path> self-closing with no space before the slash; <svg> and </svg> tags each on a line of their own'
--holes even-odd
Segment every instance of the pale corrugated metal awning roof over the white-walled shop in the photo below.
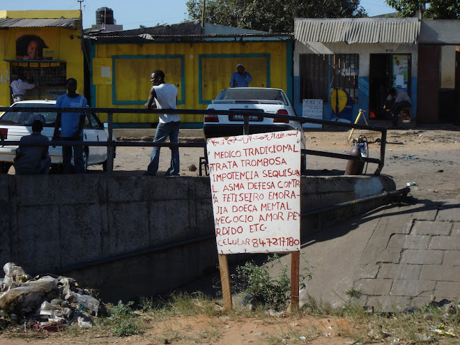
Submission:
<svg viewBox="0 0 460 345">
<path fill-rule="evenodd" d="M 294 37 L 301 43 L 413 43 L 417 18 L 296 19 Z"/>
</svg>

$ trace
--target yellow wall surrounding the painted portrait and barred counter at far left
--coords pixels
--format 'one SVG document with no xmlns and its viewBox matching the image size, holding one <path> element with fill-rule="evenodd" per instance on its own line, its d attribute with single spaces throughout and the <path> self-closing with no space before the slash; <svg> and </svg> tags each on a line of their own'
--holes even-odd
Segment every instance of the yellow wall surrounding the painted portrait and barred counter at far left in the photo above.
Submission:
<svg viewBox="0 0 460 345">
<path fill-rule="evenodd" d="M 79 18 L 80 11 L 0 11 L 0 17 L 10 18 Z M 8 28 L 0 30 L 0 105 L 9 107 L 11 101 L 10 78 L 11 62 L 5 60 L 16 60 L 16 40 L 24 35 L 36 35 L 43 38 L 48 48 L 43 49 L 43 56 L 52 58 L 51 61 L 44 60 L 33 62 L 40 68 L 56 66 L 59 60 L 66 62 L 66 77 L 74 77 L 78 83 L 78 93 L 83 94 L 84 87 L 84 55 L 81 48 L 81 31 L 75 28 L 60 27 L 29 27 L 29 28 Z M 20 61 L 15 63 L 27 63 Z M 43 66 L 43 67 L 42 67 Z M 27 76 L 25 76 L 27 77 Z M 40 85 L 39 85 L 40 86 Z M 26 100 L 29 99 L 56 99 L 56 90 L 65 90 L 64 85 L 53 85 L 36 87 L 26 93 Z"/>
</svg>

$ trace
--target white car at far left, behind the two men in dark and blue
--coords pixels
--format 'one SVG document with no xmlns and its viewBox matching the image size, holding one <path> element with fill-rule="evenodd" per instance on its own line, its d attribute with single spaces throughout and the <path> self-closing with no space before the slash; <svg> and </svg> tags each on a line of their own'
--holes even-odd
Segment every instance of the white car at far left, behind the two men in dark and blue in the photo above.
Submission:
<svg viewBox="0 0 460 345">
<path fill-rule="evenodd" d="M 24 100 L 16 102 L 11 107 L 55 107 L 55 100 Z M 40 120 L 43 122 L 42 135 L 52 139 L 56 112 L 4 112 L 0 115 L 0 133 L 3 140 L 19 141 L 24 135 L 32 132 L 32 122 Z M 107 129 L 100 122 L 95 114 L 86 114 L 86 121 L 83 129 L 84 141 L 107 141 Z M 116 138 L 113 137 L 115 141 Z M 1 146 L 0 144 L 0 174 L 8 173 L 13 165 L 17 146 Z M 62 163 L 62 147 L 49 146 L 49 156 L 53 166 Z M 92 164 L 102 164 L 107 169 L 107 146 L 84 146 L 83 151 L 85 169 Z M 72 158 L 73 161 L 73 158 Z"/>
</svg>

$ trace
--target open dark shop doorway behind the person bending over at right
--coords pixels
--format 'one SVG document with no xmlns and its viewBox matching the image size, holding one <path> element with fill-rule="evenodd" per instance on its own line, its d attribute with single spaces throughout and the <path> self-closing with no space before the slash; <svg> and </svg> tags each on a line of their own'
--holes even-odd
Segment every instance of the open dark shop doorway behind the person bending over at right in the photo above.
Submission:
<svg viewBox="0 0 460 345">
<path fill-rule="evenodd" d="M 411 54 L 371 54 L 369 60 L 369 120 L 390 120 L 383 109 L 394 87 L 411 97 Z"/>
</svg>

